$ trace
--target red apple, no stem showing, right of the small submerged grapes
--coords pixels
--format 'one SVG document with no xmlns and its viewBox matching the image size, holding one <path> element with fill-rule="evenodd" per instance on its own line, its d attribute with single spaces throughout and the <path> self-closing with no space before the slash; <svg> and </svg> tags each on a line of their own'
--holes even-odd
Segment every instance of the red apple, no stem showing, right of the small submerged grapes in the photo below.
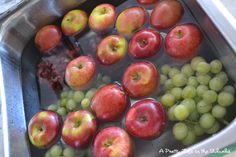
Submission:
<svg viewBox="0 0 236 157">
<path fill-rule="evenodd" d="M 91 109 L 97 119 L 105 122 L 118 120 L 127 106 L 127 97 L 116 84 L 99 89 L 91 102 Z"/>
</svg>

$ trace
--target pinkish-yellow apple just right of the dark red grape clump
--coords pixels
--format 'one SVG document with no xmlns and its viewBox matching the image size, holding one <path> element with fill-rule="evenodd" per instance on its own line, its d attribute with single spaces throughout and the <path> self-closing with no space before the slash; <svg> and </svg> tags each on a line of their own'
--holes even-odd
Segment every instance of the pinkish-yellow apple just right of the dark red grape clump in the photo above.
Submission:
<svg viewBox="0 0 236 157">
<path fill-rule="evenodd" d="M 66 67 L 65 80 L 73 89 L 82 89 L 93 79 L 96 71 L 92 57 L 80 56 L 72 60 Z"/>
</svg>

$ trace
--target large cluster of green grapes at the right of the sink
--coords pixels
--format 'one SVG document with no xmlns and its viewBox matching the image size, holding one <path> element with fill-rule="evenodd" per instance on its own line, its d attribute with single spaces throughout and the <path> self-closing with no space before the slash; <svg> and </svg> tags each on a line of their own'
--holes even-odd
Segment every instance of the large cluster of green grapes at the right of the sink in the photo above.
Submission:
<svg viewBox="0 0 236 157">
<path fill-rule="evenodd" d="M 198 136 L 214 134 L 224 121 L 226 107 L 234 103 L 234 87 L 219 60 L 207 63 L 195 57 L 178 69 L 161 67 L 160 82 L 164 94 L 160 101 L 167 108 L 170 121 L 176 121 L 172 131 L 184 145 L 195 143 Z"/>
</svg>

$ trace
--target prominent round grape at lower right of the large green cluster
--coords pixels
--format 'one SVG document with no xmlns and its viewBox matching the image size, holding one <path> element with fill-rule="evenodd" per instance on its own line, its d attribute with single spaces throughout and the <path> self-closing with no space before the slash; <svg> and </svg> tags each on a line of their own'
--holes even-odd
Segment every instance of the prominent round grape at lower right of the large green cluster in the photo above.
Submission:
<svg viewBox="0 0 236 157">
<path fill-rule="evenodd" d="M 215 121 L 215 118 L 210 113 L 204 113 L 199 119 L 199 124 L 203 129 L 210 129 Z"/>
</svg>

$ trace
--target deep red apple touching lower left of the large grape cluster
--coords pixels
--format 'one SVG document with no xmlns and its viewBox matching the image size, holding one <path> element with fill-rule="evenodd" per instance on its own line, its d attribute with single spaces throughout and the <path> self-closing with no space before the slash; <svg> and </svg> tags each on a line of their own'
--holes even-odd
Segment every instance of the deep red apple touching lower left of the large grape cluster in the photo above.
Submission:
<svg viewBox="0 0 236 157">
<path fill-rule="evenodd" d="M 159 137 L 166 126 L 162 105 L 151 99 L 136 102 L 126 114 L 125 127 L 132 136 L 152 140 Z"/>
</svg>

